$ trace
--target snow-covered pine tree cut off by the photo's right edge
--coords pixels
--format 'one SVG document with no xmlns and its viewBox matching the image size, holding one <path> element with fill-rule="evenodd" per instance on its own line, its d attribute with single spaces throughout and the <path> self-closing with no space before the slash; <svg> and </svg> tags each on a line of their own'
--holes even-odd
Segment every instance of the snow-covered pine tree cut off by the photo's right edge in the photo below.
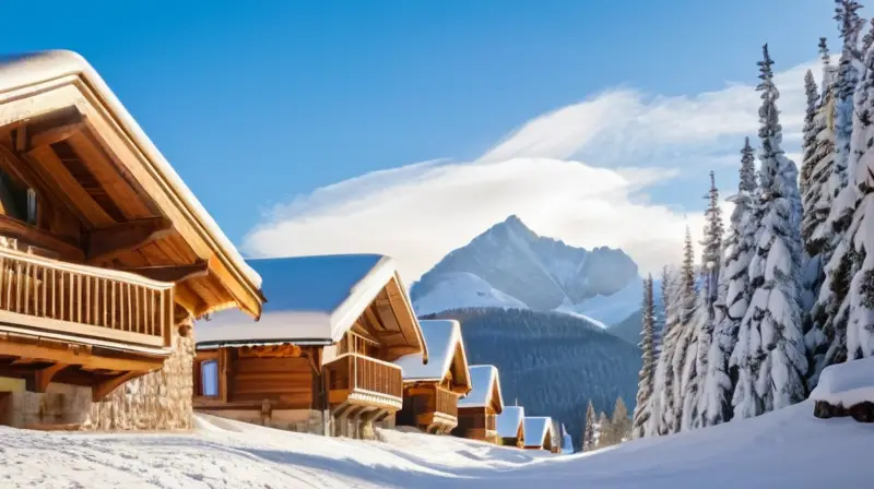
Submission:
<svg viewBox="0 0 874 489">
<path fill-rule="evenodd" d="M 850 282 L 847 321 L 847 358 L 874 356 L 874 48 L 867 43 L 853 110 L 853 153 L 850 168 L 857 191 L 853 220 L 846 238 L 851 239 L 857 262 Z M 869 251 L 871 250 L 871 251 Z"/>
</svg>

